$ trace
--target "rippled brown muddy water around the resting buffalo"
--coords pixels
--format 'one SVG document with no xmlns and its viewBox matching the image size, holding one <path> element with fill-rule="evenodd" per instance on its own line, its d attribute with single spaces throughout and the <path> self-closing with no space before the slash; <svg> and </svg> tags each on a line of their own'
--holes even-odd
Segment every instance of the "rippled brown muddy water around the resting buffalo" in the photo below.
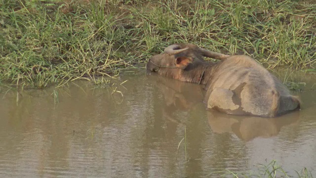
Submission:
<svg viewBox="0 0 316 178">
<path fill-rule="evenodd" d="M 0 177 L 217 177 L 273 159 L 289 175 L 316 175 L 315 80 L 295 93 L 301 111 L 272 119 L 207 111 L 198 85 L 144 72 L 125 80 L 1 88 Z"/>
</svg>

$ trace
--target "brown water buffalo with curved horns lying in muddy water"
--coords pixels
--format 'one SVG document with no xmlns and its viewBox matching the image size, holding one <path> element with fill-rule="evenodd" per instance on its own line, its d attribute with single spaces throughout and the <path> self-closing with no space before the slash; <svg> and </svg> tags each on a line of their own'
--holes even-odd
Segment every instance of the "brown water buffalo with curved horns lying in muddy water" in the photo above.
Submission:
<svg viewBox="0 0 316 178">
<path fill-rule="evenodd" d="M 214 63 L 203 56 L 221 59 Z M 193 44 L 175 44 L 154 55 L 147 72 L 205 85 L 204 102 L 227 114 L 275 117 L 300 107 L 282 82 L 245 55 L 225 55 Z"/>
</svg>

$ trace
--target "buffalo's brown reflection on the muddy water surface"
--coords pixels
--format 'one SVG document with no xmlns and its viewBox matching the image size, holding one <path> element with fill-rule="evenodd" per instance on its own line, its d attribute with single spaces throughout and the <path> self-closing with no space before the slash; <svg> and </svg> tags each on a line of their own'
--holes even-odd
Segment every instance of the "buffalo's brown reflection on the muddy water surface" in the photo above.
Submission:
<svg viewBox="0 0 316 178">
<path fill-rule="evenodd" d="M 170 121 L 182 124 L 173 117 L 178 110 L 188 111 L 201 106 L 205 91 L 202 86 L 155 76 L 156 85 L 164 98 L 163 115 Z M 231 133 L 242 140 L 256 137 L 268 138 L 277 135 L 283 126 L 296 124 L 300 112 L 291 112 L 276 118 L 235 116 L 207 110 L 208 124 L 213 133 Z"/>
</svg>

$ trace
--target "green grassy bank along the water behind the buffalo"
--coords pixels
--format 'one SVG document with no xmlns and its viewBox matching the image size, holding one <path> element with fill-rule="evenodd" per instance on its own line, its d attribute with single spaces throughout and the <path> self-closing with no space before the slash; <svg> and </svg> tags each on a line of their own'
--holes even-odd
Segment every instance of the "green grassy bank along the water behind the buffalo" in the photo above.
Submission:
<svg viewBox="0 0 316 178">
<path fill-rule="evenodd" d="M 315 29 L 313 1 L 0 0 L 0 82 L 116 76 L 180 42 L 313 70 Z"/>
</svg>

